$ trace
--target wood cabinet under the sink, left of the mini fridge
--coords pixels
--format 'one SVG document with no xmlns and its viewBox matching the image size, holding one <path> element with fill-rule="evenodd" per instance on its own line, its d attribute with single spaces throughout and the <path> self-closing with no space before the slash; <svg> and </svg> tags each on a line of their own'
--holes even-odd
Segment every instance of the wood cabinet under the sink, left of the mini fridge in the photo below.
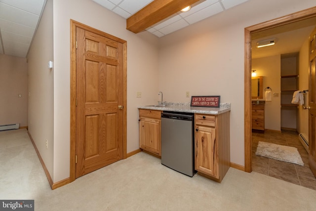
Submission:
<svg viewBox="0 0 316 211">
<path fill-rule="evenodd" d="M 161 111 L 139 110 L 139 147 L 161 156 Z"/>
</svg>

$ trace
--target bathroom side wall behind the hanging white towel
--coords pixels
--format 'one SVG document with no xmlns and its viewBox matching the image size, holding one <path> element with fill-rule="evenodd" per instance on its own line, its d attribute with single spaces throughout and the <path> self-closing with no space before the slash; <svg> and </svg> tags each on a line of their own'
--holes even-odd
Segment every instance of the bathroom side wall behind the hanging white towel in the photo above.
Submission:
<svg viewBox="0 0 316 211">
<path fill-rule="evenodd" d="M 299 56 L 299 90 L 308 90 L 309 86 L 309 55 L 308 55 L 308 38 L 303 43 L 300 49 L 300 56 Z M 304 102 L 305 106 L 308 106 L 308 94 L 306 92 L 304 94 Z M 303 133 L 304 137 L 308 140 L 308 109 L 303 109 L 303 106 L 299 106 L 298 108 L 298 124 L 297 124 L 297 131 L 299 133 Z"/>
</svg>

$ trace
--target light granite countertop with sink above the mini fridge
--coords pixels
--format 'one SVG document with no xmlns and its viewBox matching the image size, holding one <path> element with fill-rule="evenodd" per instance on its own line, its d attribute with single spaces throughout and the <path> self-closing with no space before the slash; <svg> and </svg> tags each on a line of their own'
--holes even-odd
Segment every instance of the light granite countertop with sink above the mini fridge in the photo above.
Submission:
<svg viewBox="0 0 316 211">
<path fill-rule="evenodd" d="M 150 109 L 159 111 L 178 111 L 178 112 L 188 112 L 197 114 L 222 114 L 231 110 L 230 103 L 220 103 L 219 108 L 209 108 L 209 107 L 193 107 L 190 103 L 170 103 L 167 102 L 166 106 L 155 107 L 155 106 L 139 106 L 138 109 Z"/>
</svg>

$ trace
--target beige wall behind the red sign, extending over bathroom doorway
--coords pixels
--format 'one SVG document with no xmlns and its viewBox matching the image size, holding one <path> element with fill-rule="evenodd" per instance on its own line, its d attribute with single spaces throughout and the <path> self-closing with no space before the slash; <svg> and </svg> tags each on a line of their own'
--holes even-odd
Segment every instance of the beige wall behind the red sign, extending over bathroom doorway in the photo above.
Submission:
<svg viewBox="0 0 316 211">
<path fill-rule="evenodd" d="M 159 39 L 165 100 L 189 102 L 190 91 L 231 103 L 231 162 L 244 166 L 244 28 L 312 6 L 314 0 L 249 0 Z"/>
</svg>

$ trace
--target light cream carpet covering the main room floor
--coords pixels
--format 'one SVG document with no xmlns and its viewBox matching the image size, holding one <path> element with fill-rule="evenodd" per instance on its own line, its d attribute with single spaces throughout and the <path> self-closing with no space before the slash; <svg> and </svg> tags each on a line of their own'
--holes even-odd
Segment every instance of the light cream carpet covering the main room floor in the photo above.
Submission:
<svg viewBox="0 0 316 211">
<path fill-rule="evenodd" d="M 140 152 L 51 190 L 27 130 L 0 132 L 0 199 L 35 211 L 312 211 L 316 191 L 230 168 L 222 183 L 189 177 Z"/>
</svg>

